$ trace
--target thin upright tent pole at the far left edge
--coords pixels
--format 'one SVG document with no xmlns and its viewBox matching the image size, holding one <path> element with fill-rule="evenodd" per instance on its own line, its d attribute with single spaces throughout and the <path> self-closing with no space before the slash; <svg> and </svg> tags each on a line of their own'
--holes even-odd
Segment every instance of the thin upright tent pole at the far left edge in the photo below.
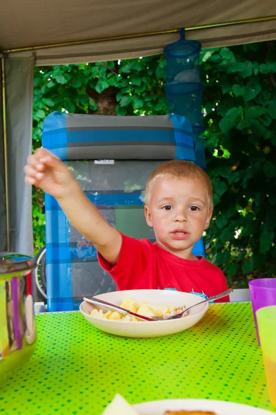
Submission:
<svg viewBox="0 0 276 415">
<path fill-rule="evenodd" d="M 1 57 L 2 73 L 2 109 L 3 109 L 3 143 L 4 143 L 4 165 L 5 165 L 5 192 L 6 192 L 6 230 L 7 250 L 10 251 L 10 200 L 8 192 L 8 139 L 7 139 L 7 114 L 6 114 L 6 77 L 5 77 L 5 56 Z"/>
</svg>

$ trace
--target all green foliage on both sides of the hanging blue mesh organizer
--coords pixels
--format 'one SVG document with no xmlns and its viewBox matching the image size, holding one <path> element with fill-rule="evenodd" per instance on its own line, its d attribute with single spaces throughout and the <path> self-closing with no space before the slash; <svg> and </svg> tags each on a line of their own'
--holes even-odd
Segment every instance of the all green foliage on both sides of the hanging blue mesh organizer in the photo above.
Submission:
<svg viewBox="0 0 276 415">
<path fill-rule="evenodd" d="M 214 214 L 208 259 L 230 285 L 275 276 L 276 42 L 201 53 L 206 162 Z M 101 97 L 115 91 L 118 116 L 167 113 L 164 55 L 35 69 L 33 146 L 52 111 L 108 113 Z M 35 246 L 44 243 L 43 194 L 34 190 Z"/>
</svg>

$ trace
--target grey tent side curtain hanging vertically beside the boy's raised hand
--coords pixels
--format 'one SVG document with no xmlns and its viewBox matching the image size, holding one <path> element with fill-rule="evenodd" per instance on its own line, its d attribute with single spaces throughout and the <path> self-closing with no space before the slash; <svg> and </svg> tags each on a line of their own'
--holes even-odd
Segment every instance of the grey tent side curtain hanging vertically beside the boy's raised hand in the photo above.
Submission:
<svg viewBox="0 0 276 415">
<path fill-rule="evenodd" d="M 10 251 L 33 255 L 32 189 L 23 167 L 32 149 L 34 57 L 5 59 Z"/>
</svg>

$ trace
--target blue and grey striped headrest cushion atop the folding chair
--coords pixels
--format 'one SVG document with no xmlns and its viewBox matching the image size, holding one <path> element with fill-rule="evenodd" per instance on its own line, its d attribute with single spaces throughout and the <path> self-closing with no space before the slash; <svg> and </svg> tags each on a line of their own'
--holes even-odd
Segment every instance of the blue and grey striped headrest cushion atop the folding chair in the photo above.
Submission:
<svg viewBox="0 0 276 415">
<path fill-rule="evenodd" d="M 195 161 L 190 122 L 171 114 L 117 117 L 55 111 L 44 120 L 42 143 L 61 160 Z"/>
</svg>

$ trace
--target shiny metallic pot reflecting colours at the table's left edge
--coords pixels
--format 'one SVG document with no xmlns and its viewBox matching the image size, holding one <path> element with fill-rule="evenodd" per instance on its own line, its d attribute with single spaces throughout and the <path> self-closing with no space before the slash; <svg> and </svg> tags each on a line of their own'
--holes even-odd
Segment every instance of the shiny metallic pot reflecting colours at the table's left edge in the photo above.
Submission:
<svg viewBox="0 0 276 415">
<path fill-rule="evenodd" d="M 0 383 L 23 365 L 36 346 L 31 257 L 0 252 Z"/>
</svg>

